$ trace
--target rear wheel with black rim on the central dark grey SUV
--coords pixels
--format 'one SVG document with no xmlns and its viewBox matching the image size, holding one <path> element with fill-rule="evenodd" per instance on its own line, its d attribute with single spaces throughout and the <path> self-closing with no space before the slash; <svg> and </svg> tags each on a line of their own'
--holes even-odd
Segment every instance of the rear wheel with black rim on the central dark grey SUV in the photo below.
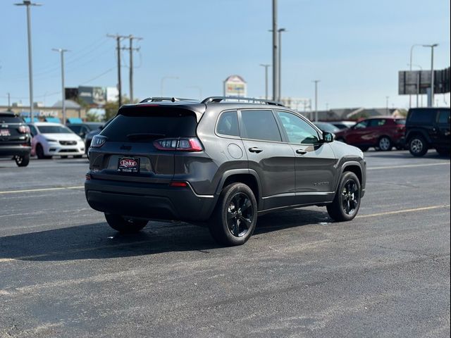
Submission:
<svg viewBox="0 0 451 338">
<path fill-rule="evenodd" d="M 225 187 L 209 220 L 211 237 L 218 244 L 242 245 L 252 236 L 255 225 L 257 200 L 252 190 L 242 183 Z"/>
</svg>

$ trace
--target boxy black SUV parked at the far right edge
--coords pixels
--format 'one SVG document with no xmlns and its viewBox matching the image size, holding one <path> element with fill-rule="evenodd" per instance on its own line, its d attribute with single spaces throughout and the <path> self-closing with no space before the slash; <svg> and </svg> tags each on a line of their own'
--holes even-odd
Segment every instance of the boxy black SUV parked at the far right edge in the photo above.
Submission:
<svg viewBox="0 0 451 338">
<path fill-rule="evenodd" d="M 449 155 L 450 108 L 409 109 L 406 139 L 413 156 L 424 156 L 430 148 L 440 155 Z"/>
</svg>

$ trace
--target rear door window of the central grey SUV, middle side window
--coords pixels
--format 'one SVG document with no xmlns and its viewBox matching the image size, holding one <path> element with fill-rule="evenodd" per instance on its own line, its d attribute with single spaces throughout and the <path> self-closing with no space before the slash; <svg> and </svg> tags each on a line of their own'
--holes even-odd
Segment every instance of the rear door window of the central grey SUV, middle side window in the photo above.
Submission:
<svg viewBox="0 0 451 338">
<path fill-rule="evenodd" d="M 242 125 L 247 139 L 282 141 L 272 111 L 241 111 Z"/>
</svg>

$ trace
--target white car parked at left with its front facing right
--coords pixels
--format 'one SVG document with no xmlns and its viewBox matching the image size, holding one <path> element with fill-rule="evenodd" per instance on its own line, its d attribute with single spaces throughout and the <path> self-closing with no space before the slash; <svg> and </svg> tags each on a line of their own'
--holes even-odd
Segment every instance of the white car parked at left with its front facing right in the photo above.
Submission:
<svg viewBox="0 0 451 338">
<path fill-rule="evenodd" d="M 28 125 L 32 134 L 31 154 L 37 158 L 85 154 L 85 142 L 68 127 L 60 123 L 37 122 Z"/>
</svg>

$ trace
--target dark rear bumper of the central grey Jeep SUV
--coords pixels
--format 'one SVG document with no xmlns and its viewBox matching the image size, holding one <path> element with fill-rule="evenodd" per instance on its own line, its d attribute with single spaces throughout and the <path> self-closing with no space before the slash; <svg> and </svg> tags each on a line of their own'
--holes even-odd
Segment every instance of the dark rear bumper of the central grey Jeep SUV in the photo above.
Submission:
<svg viewBox="0 0 451 338">
<path fill-rule="evenodd" d="M 208 220 L 217 196 L 197 195 L 191 187 L 111 180 L 85 181 L 91 208 L 136 218 L 160 220 Z"/>
</svg>

